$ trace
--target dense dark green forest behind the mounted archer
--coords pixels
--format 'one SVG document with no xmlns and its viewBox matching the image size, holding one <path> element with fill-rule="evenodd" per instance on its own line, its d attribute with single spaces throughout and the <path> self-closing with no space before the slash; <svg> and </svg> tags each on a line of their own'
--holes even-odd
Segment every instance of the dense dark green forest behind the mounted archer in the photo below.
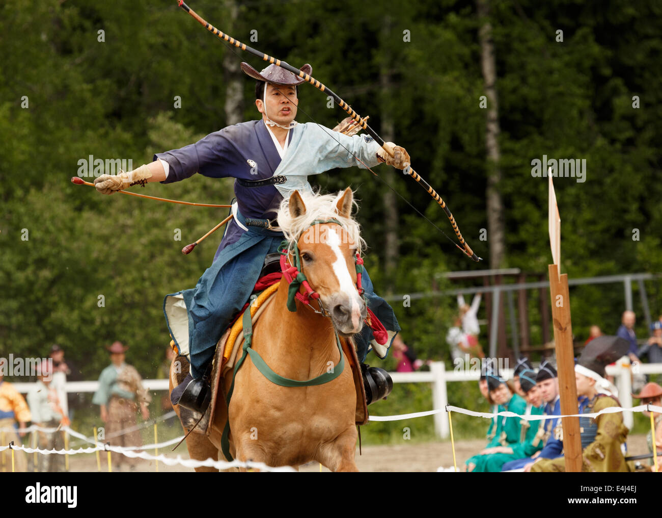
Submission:
<svg viewBox="0 0 662 518">
<path fill-rule="evenodd" d="M 581 176 L 555 179 L 563 272 L 662 272 L 659 1 L 190 5 L 242 42 L 297 68 L 311 64 L 385 140 L 406 148 L 448 203 L 483 262 L 457 250 L 444 211 L 397 170 L 310 178 L 324 191 L 356 189 L 375 289 L 395 297 L 405 339 L 422 358 L 450 359 L 455 299 L 408 305 L 402 295 L 471 285 L 449 284 L 441 275 L 449 271 L 546 274 L 547 178 L 536 175 L 536 160 L 585 164 Z M 257 119 L 254 80 L 238 64 L 264 64 L 220 42 L 175 0 L 16 0 L 1 12 L 0 356 L 45 356 L 58 343 L 93 379 L 107 364 L 103 347 L 121 340 L 143 376 L 156 376 L 169 341 L 163 297 L 195 285 L 220 233 L 190 256 L 179 250 L 227 211 L 103 196 L 70 178 L 93 176 L 98 159 L 136 168 Z M 299 99 L 301 123 L 334 127 L 345 117 L 310 85 Z M 233 195 L 232 180 L 201 175 L 140 193 L 200 203 Z M 647 284 L 654 316 L 661 287 Z M 614 333 L 622 287 L 571 297 L 575 335 L 593 323 Z M 641 319 L 637 329 L 645 336 Z"/>
</svg>

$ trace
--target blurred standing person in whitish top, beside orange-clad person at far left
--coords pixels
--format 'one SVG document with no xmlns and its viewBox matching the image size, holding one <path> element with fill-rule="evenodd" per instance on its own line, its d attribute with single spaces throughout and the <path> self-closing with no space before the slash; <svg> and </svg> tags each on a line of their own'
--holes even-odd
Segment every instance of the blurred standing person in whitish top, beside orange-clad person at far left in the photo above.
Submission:
<svg viewBox="0 0 662 518">
<path fill-rule="evenodd" d="M 28 405 L 32 413 L 32 423 L 42 428 L 59 428 L 69 425 L 69 418 L 60 406 L 58 389 L 52 383 L 53 372 L 48 360 L 40 364 L 38 382 L 28 392 Z M 56 430 L 38 432 L 39 448 L 44 450 L 62 450 L 64 448 L 64 433 Z M 40 455 L 39 470 L 41 472 L 64 471 L 64 456 L 58 454 Z"/>
</svg>

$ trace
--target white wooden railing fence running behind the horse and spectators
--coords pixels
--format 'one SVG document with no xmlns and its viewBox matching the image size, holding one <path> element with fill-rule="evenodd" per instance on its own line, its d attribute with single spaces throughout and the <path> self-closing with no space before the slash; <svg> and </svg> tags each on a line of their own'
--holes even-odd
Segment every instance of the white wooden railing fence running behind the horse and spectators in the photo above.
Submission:
<svg viewBox="0 0 662 518">
<path fill-rule="evenodd" d="M 507 380 L 512 378 L 512 369 L 503 369 L 500 374 Z M 608 366 L 606 373 L 616 378 L 618 388 L 618 399 L 621 407 L 630 408 L 632 404 L 632 368 L 630 365 Z M 433 362 L 430 364 L 429 372 L 391 372 L 393 383 L 430 383 L 432 384 L 432 406 L 434 410 L 444 409 L 449 404 L 446 384 L 449 382 L 477 382 L 480 373 L 476 370 L 460 370 L 458 372 L 446 370 L 444 362 Z M 636 374 L 662 374 L 662 364 L 638 364 Z M 15 388 L 26 393 L 32 383 L 15 383 Z M 143 380 L 142 385 L 148 390 L 167 390 L 168 380 Z M 95 392 L 99 388 L 99 382 L 67 382 L 68 392 Z M 452 401 L 450 402 L 452 403 Z M 632 429 L 634 417 L 632 413 L 623 414 L 626 427 Z M 446 439 L 449 437 L 448 417 L 446 413 L 434 415 L 434 431 L 438 437 Z"/>
</svg>

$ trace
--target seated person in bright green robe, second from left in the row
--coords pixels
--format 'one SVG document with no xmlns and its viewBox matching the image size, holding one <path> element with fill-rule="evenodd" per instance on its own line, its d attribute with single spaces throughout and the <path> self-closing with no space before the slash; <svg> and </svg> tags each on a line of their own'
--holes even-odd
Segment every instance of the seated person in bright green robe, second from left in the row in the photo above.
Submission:
<svg viewBox="0 0 662 518">
<path fill-rule="evenodd" d="M 498 411 L 510 411 L 518 415 L 522 415 L 526 411 L 526 402 L 514 393 L 514 390 L 510 388 L 503 378 L 494 371 L 487 372 L 486 377 L 489 396 L 495 405 L 498 405 Z M 474 455 L 465 462 L 465 471 L 487 471 L 489 468 L 487 462 L 490 454 L 486 452 L 489 452 L 489 448 L 517 444 L 520 440 L 520 428 L 520 418 L 498 416 L 496 419 L 496 429 L 492 433 L 493 439 L 488 442 L 481 453 Z"/>
</svg>

